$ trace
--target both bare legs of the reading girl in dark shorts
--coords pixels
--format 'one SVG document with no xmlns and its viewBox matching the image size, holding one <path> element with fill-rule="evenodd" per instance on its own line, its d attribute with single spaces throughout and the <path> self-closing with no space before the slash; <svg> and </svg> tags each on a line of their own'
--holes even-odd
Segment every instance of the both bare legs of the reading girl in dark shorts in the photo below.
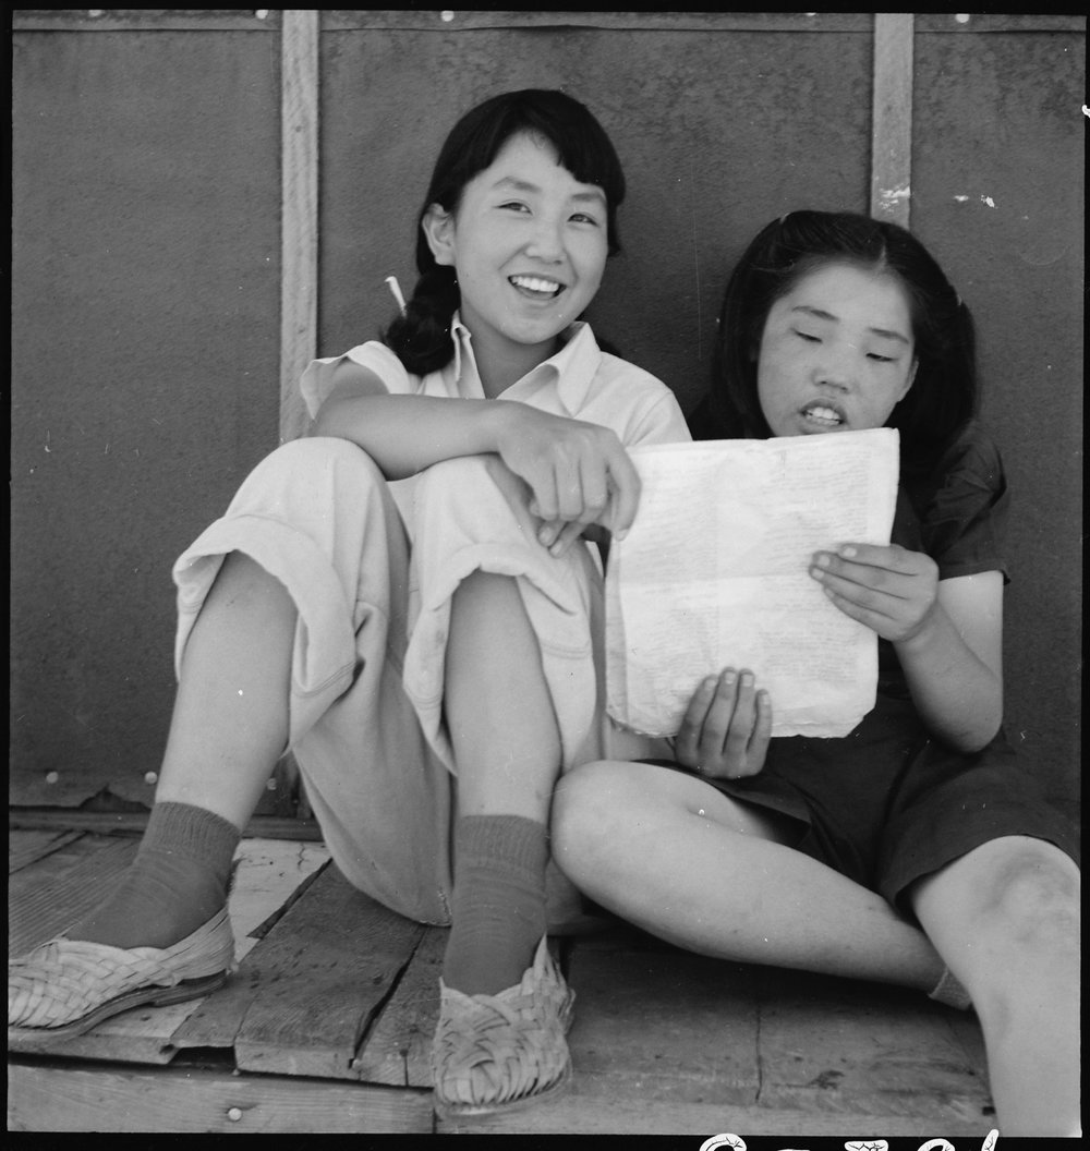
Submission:
<svg viewBox="0 0 1090 1151">
<path fill-rule="evenodd" d="M 993 840 L 916 884 L 921 930 L 788 844 L 776 816 L 639 763 L 578 768 L 554 802 L 569 877 L 678 946 L 921 990 L 948 966 L 981 1020 L 1001 1131 L 1077 1134 L 1075 864 L 1039 840 Z"/>
</svg>

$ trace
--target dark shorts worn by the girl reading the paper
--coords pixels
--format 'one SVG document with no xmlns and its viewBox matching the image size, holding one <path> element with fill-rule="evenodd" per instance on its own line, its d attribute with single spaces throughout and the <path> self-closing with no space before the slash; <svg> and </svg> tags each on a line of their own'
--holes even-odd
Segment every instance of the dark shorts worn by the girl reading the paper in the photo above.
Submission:
<svg viewBox="0 0 1090 1151">
<path fill-rule="evenodd" d="M 1072 821 L 1044 798 L 1001 732 L 965 755 L 931 739 L 902 700 L 879 696 L 844 739 L 773 739 L 756 776 L 701 778 L 798 820 L 793 847 L 907 916 L 916 879 L 992 839 L 1044 839 L 1078 862 Z"/>
</svg>

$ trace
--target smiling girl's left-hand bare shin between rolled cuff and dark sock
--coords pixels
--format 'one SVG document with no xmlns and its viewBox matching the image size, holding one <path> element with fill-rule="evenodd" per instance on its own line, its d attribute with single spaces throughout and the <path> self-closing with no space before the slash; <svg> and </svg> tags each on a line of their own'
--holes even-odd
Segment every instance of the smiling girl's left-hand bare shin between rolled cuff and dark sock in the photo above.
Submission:
<svg viewBox="0 0 1090 1151">
<path fill-rule="evenodd" d="M 288 741 L 295 623 L 264 567 L 239 552 L 223 561 L 185 647 L 157 802 L 246 825 Z"/>
</svg>

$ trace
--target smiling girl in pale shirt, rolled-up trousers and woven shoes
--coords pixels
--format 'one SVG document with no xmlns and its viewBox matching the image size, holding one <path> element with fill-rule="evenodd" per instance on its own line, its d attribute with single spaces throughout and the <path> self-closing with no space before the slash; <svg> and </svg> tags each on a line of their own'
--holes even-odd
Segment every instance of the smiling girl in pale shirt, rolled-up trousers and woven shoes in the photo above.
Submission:
<svg viewBox="0 0 1090 1151">
<path fill-rule="evenodd" d="M 632 523 L 627 447 L 688 439 L 672 392 L 580 321 L 624 190 L 601 125 L 561 92 L 456 124 L 404 314 L 311 365 L 314 435 L 262 462 L 175 565 L 178 694 L 139 854 L 96 912 L 9 966 L 9 1027 L 79 1034 L 221 983 L 234 851 L 290 747 L 348 879 L 453 924 L 437 1107 L 563 1085 L 551 792 L 562 768 L 616 754 L 595 686 L 601 567 L 578 538 Z"/>
</svg>

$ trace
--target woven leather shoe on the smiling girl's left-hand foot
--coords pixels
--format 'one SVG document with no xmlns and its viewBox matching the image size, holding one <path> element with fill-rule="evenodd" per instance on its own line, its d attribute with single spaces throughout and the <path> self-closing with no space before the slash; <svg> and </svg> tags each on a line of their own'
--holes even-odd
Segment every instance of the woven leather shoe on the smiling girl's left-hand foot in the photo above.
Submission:
<svg viewBox="0 0 1090 1151">
<path fill-rule="evenodd" d="M 195 999 L 222 986 L 235 966 L 226 907 L 173 947 L 51 939 L 8 962 L 8 1039 L 83 1035 L 132 1007 Z"/>
</svg>

